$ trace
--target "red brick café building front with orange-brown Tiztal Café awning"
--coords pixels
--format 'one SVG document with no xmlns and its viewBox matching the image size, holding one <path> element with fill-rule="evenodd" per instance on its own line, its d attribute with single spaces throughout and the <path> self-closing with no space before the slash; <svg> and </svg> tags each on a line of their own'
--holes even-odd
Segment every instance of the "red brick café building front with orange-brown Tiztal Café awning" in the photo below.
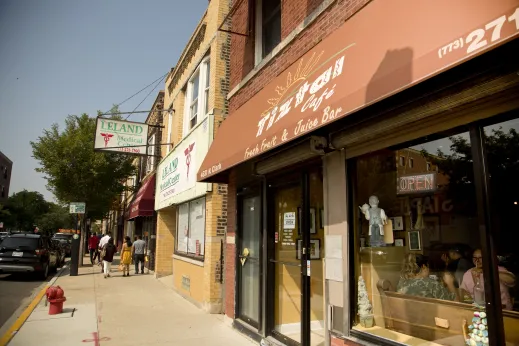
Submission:
<svg viewBox="0 0 519 346">
<path fill-rule="evenodd" d="M 470 304 L 394 292 L 413 259 L 430 259 L 418 269 L 442 286 L 447 253 L 508 251 L 506 240 L 492 243 L 506 222 L 474 210 L 494 208 L 482 192 L 495 183 L 485 135 L 500 135 L 500 122 L 519 127 L 510 123 L 519 118 L 517 60 L 494 60 L 519 33 L 503 24 L 491 34 L 519 10 L 513 1 L 473 5 L 233 1 L 221 26 L 231 34 L 229 116 L 198 181 L 228 183 L 225 315 L 236 329 L 267 345 L 476 340 L 464 340 Z M 476 15 L 463 16 L 469 9 Z M 456 26 L 436 25 L 439 16 Z M 487 43 L 475 48 L 475 35 Z M 445 157 L 474 162 L 466 172 Z M 478 193 L 461 193 L 454 176 Z M 485 258 L 498 282 L 497 257 Z M 506 307 L 485 284 L 487 302 Z M 487 311 L 494 334 L 485 342 L 519 340 L 508 311 Z"/>
</svg>

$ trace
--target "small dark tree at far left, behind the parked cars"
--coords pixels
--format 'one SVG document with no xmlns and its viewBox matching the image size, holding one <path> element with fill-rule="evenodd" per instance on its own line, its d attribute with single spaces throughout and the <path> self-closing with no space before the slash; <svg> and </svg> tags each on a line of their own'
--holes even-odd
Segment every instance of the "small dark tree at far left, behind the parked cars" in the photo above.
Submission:
<svg viewBox="0 0 519 346">
<path fill-rule="evenodd" d="M 41 193 L 23 190 L 9 197 L 5 209 L 10 214 L 6 217 L 6 227 L 31 232 L 38 218 L 48 212 L 49 204 Z"/>
</svg>

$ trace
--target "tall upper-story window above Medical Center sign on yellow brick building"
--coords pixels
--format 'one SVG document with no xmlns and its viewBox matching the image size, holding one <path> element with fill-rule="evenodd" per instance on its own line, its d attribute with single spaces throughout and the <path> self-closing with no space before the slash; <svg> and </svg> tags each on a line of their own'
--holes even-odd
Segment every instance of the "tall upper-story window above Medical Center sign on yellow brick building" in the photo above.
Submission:
<svg viewBox="0 0 519 346">
<path fill-rule="evenodd" d="M 209 57 L 205 58 L 188 82 L 184 136 L 202 121 L 209 111 Z"/>
</svg>

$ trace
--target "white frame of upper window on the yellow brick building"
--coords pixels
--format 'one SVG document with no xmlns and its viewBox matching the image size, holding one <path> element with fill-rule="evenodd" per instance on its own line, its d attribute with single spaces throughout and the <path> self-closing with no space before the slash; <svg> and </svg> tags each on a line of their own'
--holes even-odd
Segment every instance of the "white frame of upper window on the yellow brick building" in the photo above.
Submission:
<svg viewBox="0 0 519 346">
<path fill-rule="evenodd" d="M 187 136 L 193 128 L 195 128 L 198 124 L 200 124 L 205 117 L 207 116 L 209 112 L 209 107 L 207 107 L 207 112 L 205 112 L 206 105 L 208 105 L 209 100 L 206 100 L 206 90 L 209 90 L 211 88 L 211 80 L 209 78 L 209 85 L 206 86 L 207 81 L 207 73 L 210 73 L 211 66 L 210 66 L 210 59 L 209 56 L 205 57 L 200 65 L 197 67 L 195 72 L 191 75 L 191 78 L 189 78 L 189 81 L 187 82 L 187 90 L 186 90 L 186 102 L 184 105 L 184 131 L 183 131 L 183 137 Z M 194 80 L 195 78 L 198 78 L 198 98 L 196 101 L 193 99 L 193 86 L 194 86 Z M 207 93 L 207 96 L 209 96 L 209 93 Z M 194 118 L 191 109 L 195 105 L 197 105 L 197 119 L 196 123 L 191 125 L 191 121 Z"/>
</svg>

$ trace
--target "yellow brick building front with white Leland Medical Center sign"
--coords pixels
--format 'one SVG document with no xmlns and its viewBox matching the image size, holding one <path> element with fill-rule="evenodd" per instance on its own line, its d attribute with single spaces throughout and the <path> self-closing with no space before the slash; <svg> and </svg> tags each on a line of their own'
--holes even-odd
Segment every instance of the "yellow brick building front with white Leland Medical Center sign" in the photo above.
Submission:
<svg viewBox="0 0 519 346">
<path fill-rule="evenodd" d="M 217 28 L 228 11 L 228 0 L 209 2 L 166 78 L 162 142 L 171 145 L 162 147 L 155 204 L 156 275 L 210 313 L 223 305 L 227 187 L 196 183 L 196 172 L 227 110 L 230 38 Z"/>
</svg>

